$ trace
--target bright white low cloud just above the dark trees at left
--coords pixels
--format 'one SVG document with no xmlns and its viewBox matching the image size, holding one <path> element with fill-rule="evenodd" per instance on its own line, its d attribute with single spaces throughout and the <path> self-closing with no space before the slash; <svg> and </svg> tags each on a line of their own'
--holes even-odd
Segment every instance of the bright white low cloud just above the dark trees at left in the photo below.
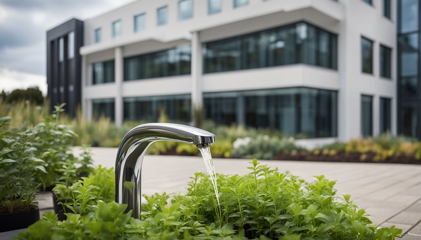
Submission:
<svg viewBox="0 0 421 240">
<path fill-rule="evenodd" d="M 22 73 L 0 69 L 0 91 L 10 92 L 13 89 L 39 87 L 43 95 L 47 95 L 47 79 L 45 75 Z"/>
</svg>

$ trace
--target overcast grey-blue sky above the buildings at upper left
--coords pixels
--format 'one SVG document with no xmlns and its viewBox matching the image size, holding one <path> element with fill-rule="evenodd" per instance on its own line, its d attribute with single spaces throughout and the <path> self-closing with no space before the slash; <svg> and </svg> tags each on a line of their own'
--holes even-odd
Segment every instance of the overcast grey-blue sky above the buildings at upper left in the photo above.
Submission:
<svg viewBox="0 0 421 240">
<path fill-rule="evenodd" d="M 129 2 L 133 0 L 0 0 L 0 91 L 38 86 L 46 95 L 46 31 Z"/>
</svg>

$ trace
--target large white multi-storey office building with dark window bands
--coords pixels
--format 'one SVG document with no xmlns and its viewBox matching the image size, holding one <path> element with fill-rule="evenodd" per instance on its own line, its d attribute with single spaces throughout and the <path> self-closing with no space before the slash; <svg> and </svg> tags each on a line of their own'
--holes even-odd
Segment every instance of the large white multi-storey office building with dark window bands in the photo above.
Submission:
<svg viewBox="0 0 421 240">
<path fill-rule="evenodd" d="M 84 21 L 82 108 L 122 124 L 203 106 L 320 141 L 405 132 L 395 13 L 411 1 L 138 0 Z"/>
</svg>

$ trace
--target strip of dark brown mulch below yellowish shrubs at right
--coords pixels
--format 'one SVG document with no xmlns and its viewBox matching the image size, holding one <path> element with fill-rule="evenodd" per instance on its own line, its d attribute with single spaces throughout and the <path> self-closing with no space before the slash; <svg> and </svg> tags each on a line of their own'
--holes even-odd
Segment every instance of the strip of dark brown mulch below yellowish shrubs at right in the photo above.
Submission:
<svg viewBox="0 0 421 240">
<path fill-rule="evenodd" d="M 296 154 L 280 153 L 274 157 L 274 160 L 288 161 L 313 161 L 313 162 L 352 162 L 352 163 L 382 163 L 382 164 L 421 164 L 421 161 L 414 156 L 393 155 L 383 161 L 374 161 L 376 153 L 366 153 L 366 158 L 361 160 L 362 153 L 347 153 L 338 151 L 335 155 L 318 154 L 312 152 L 298 152 Z"/>
</svg>

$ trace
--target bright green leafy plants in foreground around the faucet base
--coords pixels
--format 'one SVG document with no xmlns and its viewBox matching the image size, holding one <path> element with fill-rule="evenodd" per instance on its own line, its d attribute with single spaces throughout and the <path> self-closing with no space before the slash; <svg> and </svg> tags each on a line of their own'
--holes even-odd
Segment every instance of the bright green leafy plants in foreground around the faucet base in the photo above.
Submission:
<svg viewBox="0 0 421 240">
<path fill-rule="evenodd" d="M 45 213 L 16 239 L 364 239 L 393 240 L 402 229 L 377 228 L 363 209 L 323 175 L 313 183 L 250 162 L 250 173 L 217 175 L 220 205 L 208 175 L 196 173 L 187 193 L 144 195 L 140 219 L 126 205 L 97 201 L 88 213 L 57 221 Z M 130 184 L 127 184 L 130 187 Z M 95 195 L 95 193 L 93 193 Z M 83 199 L 76 199 L 79 203 Z"/>
</svg>

